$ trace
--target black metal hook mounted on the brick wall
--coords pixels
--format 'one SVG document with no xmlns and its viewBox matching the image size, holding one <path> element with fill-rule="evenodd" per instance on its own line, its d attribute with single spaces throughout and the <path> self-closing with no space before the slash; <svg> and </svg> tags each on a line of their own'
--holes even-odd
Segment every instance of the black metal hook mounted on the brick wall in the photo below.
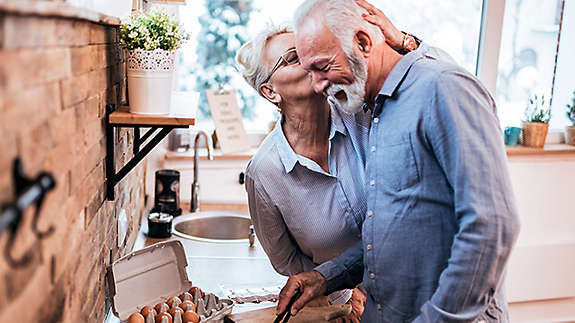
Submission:
<svg viewBox="0 0 575 323">
<path fill-rule="evenodd" d="M 56 186 L 54 177 L 51 174 L 42 172 L 34 180 L 28 179 L 22 171 L 20 159 L 14 160 L 12 169 L 12 181 L 14 184 L 15 201 L 2 208 L 0 217 L 0 234 L 8 229 L 8 241 L 4 249 L 4 256 L 12 267 L 23 267 L 32 260 L 33 251 L 28 250 L 20 259 L 14 259 L 11 248 L 16 237 L 16 232 L 22 220 L 22 214 L 32 204 L 36 204 L 34 218 L 32 220 L 32 231 L 38 239 L 45 239 L 54 233 L 54 226 L 50 226 L 46 231 L 38 229 L 38 220 L 44 196 Z"/>
</svg>

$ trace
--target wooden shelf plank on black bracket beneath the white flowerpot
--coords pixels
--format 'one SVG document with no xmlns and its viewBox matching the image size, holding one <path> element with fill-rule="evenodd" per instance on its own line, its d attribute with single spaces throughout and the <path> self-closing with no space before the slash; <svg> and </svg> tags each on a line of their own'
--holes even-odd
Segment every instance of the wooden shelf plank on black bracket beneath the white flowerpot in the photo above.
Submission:
<svg viewBox="0 0 575 323">
<path fill-rule="evenodd" d="M 196 118 L 191 114 L 150 115 L 130 113 L 129 107 L 123 106 L 110 114 L 110 124 L 114 126 L 167 126 L 186 127 L 193 126 Z"/>
</svg>

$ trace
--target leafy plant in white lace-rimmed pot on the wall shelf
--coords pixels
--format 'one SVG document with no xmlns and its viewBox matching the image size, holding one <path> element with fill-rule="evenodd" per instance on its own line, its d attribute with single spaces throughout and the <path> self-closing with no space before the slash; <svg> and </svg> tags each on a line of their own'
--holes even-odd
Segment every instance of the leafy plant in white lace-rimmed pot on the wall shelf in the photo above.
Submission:
<svg viewBox="0 0 575 323">
<path fill-rule="evenodd" d="M 175 19 L 160 11 L 132 15 L 120 26 L 126 49 L 130 112 L 170 112 L 175 54 L 183 40 Z"/>
</svg>

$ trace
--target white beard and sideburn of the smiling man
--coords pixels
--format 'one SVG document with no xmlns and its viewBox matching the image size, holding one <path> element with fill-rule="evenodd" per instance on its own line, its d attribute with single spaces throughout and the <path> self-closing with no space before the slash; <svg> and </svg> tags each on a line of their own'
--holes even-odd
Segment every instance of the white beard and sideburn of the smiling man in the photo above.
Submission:
<svg viewBox="0 0 575 323">
<path fill-rule="evenodd" d="M 349 85 L 333 84 L 327 89 L 326 94 L 330 97 L 331 100 L 335 101 L 337 106 L 340 107 L 344 112 L 355 114 L 362 109 L 363 103 L 365 102 L 367 66 L 365 61 L 363 61 L 362 58 L 355 53 L 348 55 L 347 61 L 355 78 L 353 83 Z M 343 91 L 346 96 L 341 100 L 335 97 L 335 95 L 340 91 Z"/>
</svg>

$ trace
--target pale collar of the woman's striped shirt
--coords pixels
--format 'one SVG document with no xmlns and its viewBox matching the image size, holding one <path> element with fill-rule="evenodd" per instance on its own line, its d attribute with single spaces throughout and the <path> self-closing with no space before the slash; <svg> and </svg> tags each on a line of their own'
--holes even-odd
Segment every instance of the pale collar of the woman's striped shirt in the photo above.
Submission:
<svg viewBox="0 0 575 323">
<path fill-rule="evenodd" d="M 332 104 L 330 104 L 330 114 L 331 114 L 331 125 L 329 130 L 330 141 L 333 138 L 335 138 L 338 132 L 344 136 L 348 135 L 347 128 L 345 127 L 339 113 L 340 112 L 338 111 L 338 109 L 335 108 L 335 106 L 333 106 Z M 303 163 L 308 164 L 309 160 L 297 155 L 295 151 L 292 149 L 283 132 L 281 121 L 282 119 L 280 118 L 276 122 L 274 130 L 272 131 L 272 136 L 274 138 L 274 142 L 276 143 L 276 147 L 278 149 L 280 160 L 284 166 L 284 169 L 286 173 L 289 173 L 293 170 L 298 161 L 300 163 L 302 163 L 303 161 Z M 300 157 L 305 160 L 300 160 Z"/>
</svg>

